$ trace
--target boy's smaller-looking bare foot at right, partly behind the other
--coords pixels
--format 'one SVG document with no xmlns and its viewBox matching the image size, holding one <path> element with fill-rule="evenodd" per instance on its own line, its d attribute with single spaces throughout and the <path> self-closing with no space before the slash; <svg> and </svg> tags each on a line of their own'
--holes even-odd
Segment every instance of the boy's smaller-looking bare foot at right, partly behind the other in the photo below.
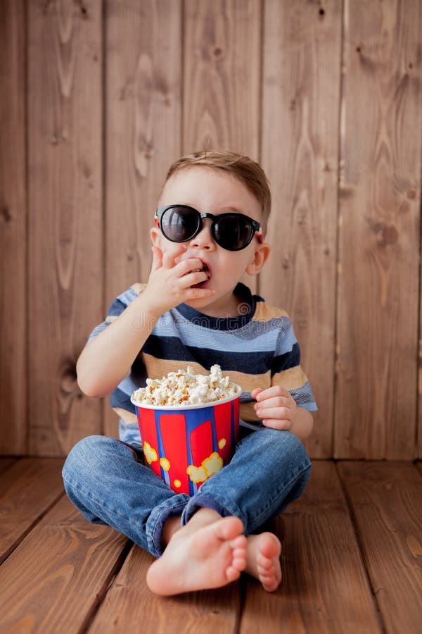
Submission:
<svg viewBox="0 0 422 634">
<path fill-rule="evenodd" d="M 267 592 L 274 592 L 281 583 L 280 554 L 281 543 L 273 533 L 248 535 L 245 572 L 260 580 Z"/>
</svg>

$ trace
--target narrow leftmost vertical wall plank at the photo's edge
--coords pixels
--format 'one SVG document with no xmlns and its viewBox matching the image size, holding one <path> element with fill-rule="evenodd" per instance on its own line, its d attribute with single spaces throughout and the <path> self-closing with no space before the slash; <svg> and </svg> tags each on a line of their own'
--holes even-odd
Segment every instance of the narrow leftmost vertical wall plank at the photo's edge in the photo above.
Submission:
<svg viewBox="0 0 422 634">
<path fill-rule="evenodd" d="M 25 23 L 24 0 L 0 3 L 0 454 L 15 455 L 27 452 Z"/>
</svg>

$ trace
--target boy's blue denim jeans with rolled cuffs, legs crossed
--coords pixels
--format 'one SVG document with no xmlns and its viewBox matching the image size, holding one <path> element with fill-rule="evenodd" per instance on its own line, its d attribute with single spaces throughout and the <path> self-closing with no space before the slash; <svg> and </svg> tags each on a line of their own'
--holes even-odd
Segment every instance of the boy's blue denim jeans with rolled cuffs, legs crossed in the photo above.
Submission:
<svg viewBox="0 0 422 634">
<path fill-rule="evenodd" d="M 143 461 L 140 449 L 106 436 L 73 447 L 63 466 L 65 490 L 93 523 L 108 524 L 160 557 L 162 528 L 171 516 L 181 526 L 200 506 L 241 518 L 245 535 L 297 499 L 311 471 L 302 442 L 288 431 L 262 428 L 236 445 L 231 462 L 192 497 L 174 493 Z"/>
</svg>

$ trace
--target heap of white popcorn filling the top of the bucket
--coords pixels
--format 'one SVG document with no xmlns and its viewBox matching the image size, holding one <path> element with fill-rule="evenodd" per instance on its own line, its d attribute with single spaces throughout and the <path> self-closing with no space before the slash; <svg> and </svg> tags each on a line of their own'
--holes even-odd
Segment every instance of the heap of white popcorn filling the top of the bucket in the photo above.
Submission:
<svg viewBox="0 0 422 634">
<path fill-rule="evenodd" d="M 196 405 L 233 397 L 237 389 L 217 364 L 208 376 L 195 374 L 188 366 L 186 371 L 169 372 L 162 379 L 147 379 L 146 387 L 135 390 L 132 400 L 145 405 Z"/>
</svg>

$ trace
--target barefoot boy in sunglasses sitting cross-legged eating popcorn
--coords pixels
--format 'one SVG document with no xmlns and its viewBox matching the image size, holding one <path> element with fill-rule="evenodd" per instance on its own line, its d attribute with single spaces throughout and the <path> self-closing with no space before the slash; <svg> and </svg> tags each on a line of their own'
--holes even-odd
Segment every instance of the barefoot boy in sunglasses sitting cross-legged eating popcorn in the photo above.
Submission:
<svg viewBox="0 0 422 634">
<path fill-rule="evenodd" d="M 120 440 L 80 441 L 63 468 L 66 492 L 90 521 L 158 557 L 147 583 L 160 595 L 217 588 L 241 571 L 269 592 L 281 582 L 279 539 L 257 531 L 307 484 L 301 440 L 316 404 L 290 319 L 239 283 L 269 256 L 270 201 L 262 168 L 245 156 L 215 151 L 176 161 L 151 229 L 148 283 L 113 302 L 77 362 L 85 394 L 113 392 Z M 206 374 L 214 363 L 243 387 L 244 437 L 231 462 L 188 497 L 143 463 L 129 399 L 147 376 L 188 364 Z"/>
</svg>

